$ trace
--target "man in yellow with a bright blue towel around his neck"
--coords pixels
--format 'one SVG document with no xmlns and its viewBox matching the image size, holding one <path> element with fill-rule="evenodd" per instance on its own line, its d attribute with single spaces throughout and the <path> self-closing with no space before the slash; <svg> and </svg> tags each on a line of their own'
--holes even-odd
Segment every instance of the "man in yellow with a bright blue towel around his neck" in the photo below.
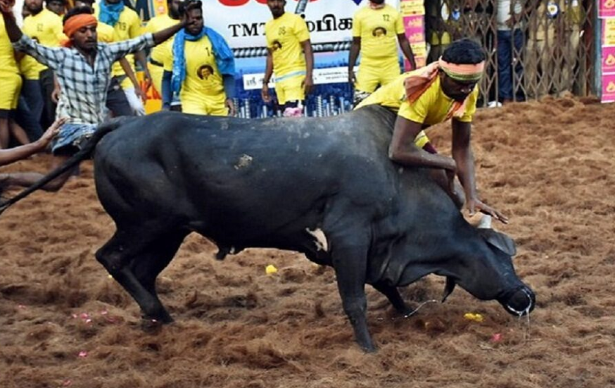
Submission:
<svg viewBox="0 0 615 388">
<path fill-rule="evenodd" d="M 201 1 L 186 5 L 189 25 L 175 35 L 163 73 L 163 108 L 195 115 L 235 115 L 235 61 L 224 38 L 203 25 Z"/>
</svg>

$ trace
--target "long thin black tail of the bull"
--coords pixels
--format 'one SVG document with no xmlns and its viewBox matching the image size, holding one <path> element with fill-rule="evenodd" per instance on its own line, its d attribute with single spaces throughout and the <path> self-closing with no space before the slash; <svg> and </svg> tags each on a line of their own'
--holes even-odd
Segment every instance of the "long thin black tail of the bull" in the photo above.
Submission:
<svg viewBox="0 0 615 388">
<path fill-rule="evenodd" d="M 13 196 L 13 198 L 0 202 L 0 214 L 2 214 L 6 209 L 8 209 L 13 204 L 17 203 L 21 199 L 24 199 L 26 196 L 29 196 L 32 192 L 37 191 L 41 187 L 44 187 L 45 184 L 48 184 L 49 182 L 56 179 L 63 173 L 66 173 L 71 168 L 74 168 L 75 165 L 79 164 L 84 159 L 91 156 L 94 149 L 96 149 L 96 144 L 98 144 L 106 134 L 118 128 L 120 125 L 122 125 L 122 123 L 125 123 L 127 119 L 129 118 L 125 118 L 125 117 L 114 118 L 112 120 L 109 120 L 106 123 L 99 125 L 96 132 L 94 132 L 92 137 L 90 137 L 87 140 L 87 142 L 83 144 L 82 149 L 80 149 L 80 151 L 78 151 L 77 154 L 71 156 L 62 165 L 59 165 L 58 168 L 51 171 L 49 174 L 45 175 L 44 177 L 42 177 L 38 182 L 32 184 L 32 186 L 27 187 L 27 189 L 24 189 L 19 194 Z"/>
</svg>

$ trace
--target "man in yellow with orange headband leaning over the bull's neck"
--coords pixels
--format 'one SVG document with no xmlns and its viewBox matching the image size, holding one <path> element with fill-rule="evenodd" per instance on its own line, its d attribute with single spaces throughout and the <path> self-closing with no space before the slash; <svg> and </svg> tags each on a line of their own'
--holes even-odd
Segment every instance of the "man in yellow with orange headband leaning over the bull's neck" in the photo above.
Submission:
<svg viewBox="0 0 615 388">
<path fill-rule="evenodd" d="M 458 40 L 444 51 L 439 61 L 400 75 L 395 82 L 364 99 L 357 109 L 379 104 L 396 111 L 388 149 L 391 160 L 402 165 L 444 170 L 443 174 L 436 173 L 436 180 L 459 206 L 465 201 L 470 215 L 476 211 L 484 213 L 481 224 L 488 226 L 490 217 L 502 223 L 508 223 L 508 218 L 478 199 L 474 181 L 471 123 L 485 59 L 478 43 L 471 39 Z M 452 119 L 452 158 L 437 154 L 423 132 L 424 128 L 448 119 Z M 465 198 L 455 189 L 455 176 L 459 177 Z"/>
</svg>

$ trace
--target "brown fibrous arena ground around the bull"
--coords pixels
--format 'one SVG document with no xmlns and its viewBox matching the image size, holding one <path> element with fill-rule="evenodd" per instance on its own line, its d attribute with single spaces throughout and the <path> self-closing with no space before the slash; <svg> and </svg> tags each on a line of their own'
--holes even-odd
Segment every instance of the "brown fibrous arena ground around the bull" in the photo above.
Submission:
<svg viewBox="0 0 615 388">
<path fill-rule="evenodd" d="M 218 262 L 196 235 L 159 277 L 177 322 L 141 330 L 137 304 L 94 258 L 114 229 L 86 164 L 61 192 L 0 218 L 0 387 L 614 387 L 613 123 L 615 107 L 595 99 L 479 111 L 479 190 L 509 215 L 495 226 L 515 239 L 538 306 L 528 325 L 457 288 L 405 319 L 368 287 L 379 346 L 369 355 L 330 268 L 257 249 Z M 447 152 L 448 128 L 434 132 Z M 5 171 L 48 165 L 39 156 Z M 431 276 L 403 295 L 417 304 L 442 292 Z"/>
</svg>

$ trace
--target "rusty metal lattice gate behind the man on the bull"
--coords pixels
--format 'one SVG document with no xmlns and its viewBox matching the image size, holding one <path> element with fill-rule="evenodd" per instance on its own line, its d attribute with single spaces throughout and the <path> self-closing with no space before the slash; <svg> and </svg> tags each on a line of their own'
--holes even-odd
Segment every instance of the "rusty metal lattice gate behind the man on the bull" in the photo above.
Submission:
<svg viewBox="0 0 615 388">
<path fill-rule="evenodd" d="M 462 37 L 478 39 L 485 47 L 482 106 L 489 101 L 595 92 L 595 0 L 425 0 L 424 4 L 428 62 Z"/>
</svg>

